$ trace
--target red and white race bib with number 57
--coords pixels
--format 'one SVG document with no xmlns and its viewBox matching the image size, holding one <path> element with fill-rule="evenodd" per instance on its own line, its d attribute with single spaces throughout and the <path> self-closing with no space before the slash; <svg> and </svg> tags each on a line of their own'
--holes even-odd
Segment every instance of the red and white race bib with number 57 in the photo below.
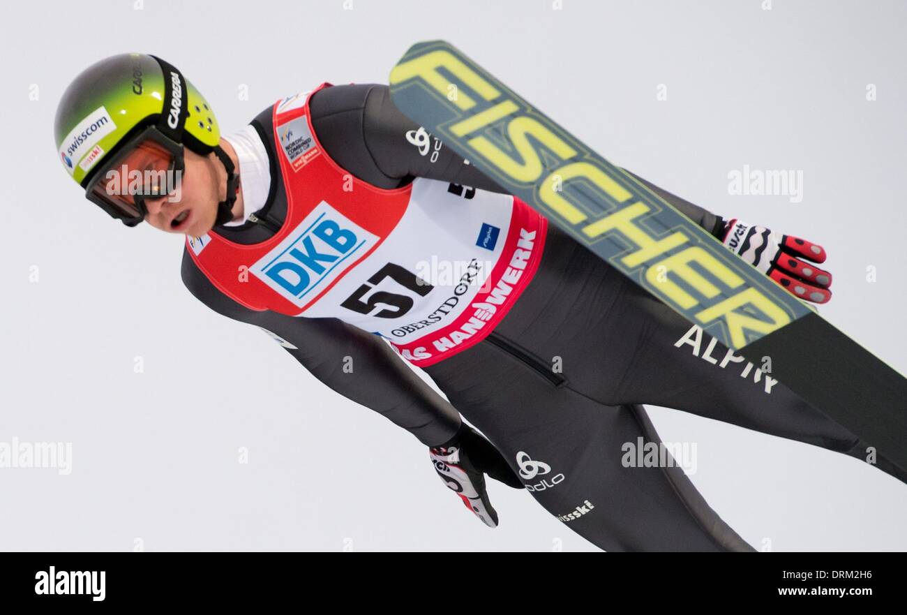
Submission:
<svg viewBox="0 0 907 615">
<path fill-rule="evenodd" d="M 274 105 L 288 198 L 278 233 L 243 245 L 212 230 L 187 238 L 190 255 L 246 307 L 336 317 L 431 365 L 507 313 L 538 268 L 547 222 L 511 195 L 424 178 L 396 190 L 359 181 L 312 128 L 308 100 L 327 86 Z"/>
</svg>

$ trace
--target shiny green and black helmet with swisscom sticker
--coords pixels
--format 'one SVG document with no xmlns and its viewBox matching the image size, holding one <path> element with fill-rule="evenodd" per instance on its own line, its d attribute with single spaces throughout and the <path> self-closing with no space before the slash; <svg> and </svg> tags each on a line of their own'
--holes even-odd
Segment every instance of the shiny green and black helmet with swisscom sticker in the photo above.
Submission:
<svg viewBox="0 0 907 615">
<path fill-rule="evenodd" d="M 237 177 L 219 147 L 217 117 L 199 91 L 156 56 L 114 55 L 85 69 L 63 93 L 54 141 L 63 168 L 85 189 L 85 196 L 127 226 L 141 222 L 147 213 L 144 200 L 160 198 L 161 188 L 145 183 L 110 190 L 112 173 L 141 165 L 145 170 L 176 171 L 180 177 L 185 170 L 183 146 L 200 155 L 213 151 L 228 177 L 218 223 L 229 220 Z"/>
</svg>

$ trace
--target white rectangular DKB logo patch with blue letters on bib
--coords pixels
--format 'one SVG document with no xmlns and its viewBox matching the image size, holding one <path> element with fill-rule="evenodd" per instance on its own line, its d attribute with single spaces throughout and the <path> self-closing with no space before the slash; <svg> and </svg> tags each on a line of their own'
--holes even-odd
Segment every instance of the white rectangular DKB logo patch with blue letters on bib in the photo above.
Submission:
<svg viewBox="0 0 907 615">
<path fill-rule="evenodd" d="M 305 307 L 377 240 L 322 200 L 249 271 L 296 307 Z"/>
</svg>

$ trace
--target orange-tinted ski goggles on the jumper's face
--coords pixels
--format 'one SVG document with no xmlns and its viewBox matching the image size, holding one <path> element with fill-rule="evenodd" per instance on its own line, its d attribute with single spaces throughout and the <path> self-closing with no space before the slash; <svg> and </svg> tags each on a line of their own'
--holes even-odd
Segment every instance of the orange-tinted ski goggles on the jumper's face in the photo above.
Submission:
<svg viewBox="0 0 907 615">
<path fill-rule="evenodd" d="M 113 218 L 134 227 L 148 214 L 146 200 L 180 190 L 183 146 L 149 126 L 122 148 L 85 186 L 85 197 Z"/>
</svg>

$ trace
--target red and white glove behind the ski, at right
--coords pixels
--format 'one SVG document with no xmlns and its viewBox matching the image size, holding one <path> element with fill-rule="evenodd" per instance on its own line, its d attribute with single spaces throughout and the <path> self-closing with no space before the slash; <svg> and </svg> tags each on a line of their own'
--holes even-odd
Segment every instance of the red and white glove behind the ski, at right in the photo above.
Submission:
<svg viewBox="0 0 907 615">
<path fill-rule="evenodd" d="M 813 303 L 827 303 L 832 298 L 832 291 L 828 289 L 832 285 L 832 274 L 806 262 L 824 262 L 822 246 L 736 218 L 725 224 L 722 243 L 796 298 Z"/>
</svg>

